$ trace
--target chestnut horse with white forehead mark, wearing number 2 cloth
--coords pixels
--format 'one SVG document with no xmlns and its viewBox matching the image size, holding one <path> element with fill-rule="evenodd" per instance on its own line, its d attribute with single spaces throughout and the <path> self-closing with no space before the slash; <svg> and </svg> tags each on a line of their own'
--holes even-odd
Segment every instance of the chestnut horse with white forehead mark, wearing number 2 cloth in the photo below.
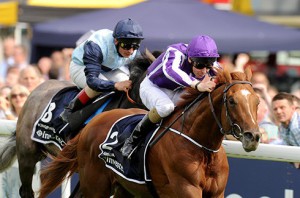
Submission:
<svg viewBox="0 0 300 198">
<path fill-rule="evenodd" d="M 147 155 L 159 197 L 224 197 L 229 174 L 224 135 L 234 135 L 247 152 L 256 150 L 261 137 L 256 121 L 259 99 L 249 82 L 251 76 L 250 68 L 245 73 L 220 72 L 218 88 L 189 109 L 186 106 L 199 93 L 192 89 L 182 93 L 176 110 L 164 119 L 157 134 L 182 112 L 183 118 L 175 119 Z M 124 116 L 140 113 L 145 111 L 118 109 L 94 118 L 42 171 L 40 197 L 59 186 L 69 171 L 79 172 L 84 197 L 152 197 L 146 185 L 125 180 L 98 158 L 99 145 L 111 126 Z"/>
</svg>

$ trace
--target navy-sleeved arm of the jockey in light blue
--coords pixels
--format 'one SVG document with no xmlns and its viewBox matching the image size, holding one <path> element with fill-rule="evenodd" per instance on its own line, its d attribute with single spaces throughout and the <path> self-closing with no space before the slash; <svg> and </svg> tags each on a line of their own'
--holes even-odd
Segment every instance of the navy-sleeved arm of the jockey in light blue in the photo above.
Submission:
<svg viewBox="0 0 300 198">
<path fill-rule="evenodd" d="M 97 92 L 112 91 L 115 89 L 115 82 L 103 80 L 99 78 L 99 74 L 103 72 L 101 63 L 103 62 L 103 54 L 99 45 L 92 41 L 84 45 L 83 63 L 87 85 Z"/>
</svg>

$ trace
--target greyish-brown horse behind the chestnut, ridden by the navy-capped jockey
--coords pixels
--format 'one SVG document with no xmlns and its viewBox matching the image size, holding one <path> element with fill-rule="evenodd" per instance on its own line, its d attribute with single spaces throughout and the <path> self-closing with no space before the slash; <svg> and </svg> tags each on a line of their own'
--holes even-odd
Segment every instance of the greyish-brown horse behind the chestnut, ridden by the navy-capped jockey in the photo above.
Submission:
<svg viewBox="0 0 300 198">
<path fill-rule="evenodd" d="M 139 84 L 143 79 L 143 75 L 145 75 L 145 70 L 150 64 L 151 61 L 148 58 L 141 57 L 131 62 L 129 66 L 130 79 L 133 81 L 130 95 L 136 101 L 136 104 L 126 100 L 123 93 L 116 93 L 105 110 L 143 107 L 136 93 L 138 93 Z M 10 167 L 17 156 L 22 183 L 19 193 L 22 198 L 34 197 L 32 176 L 36 163 L 46 157 L 45 153 L 56 156 L 60 152 L 60 149 L 54 144 L 42 144 L 31 139 L 34 123 L 40 118 L 50 99 L 62 88 L 71 86 L 74 86 L 74 84 L 67 81 L 49 80 L 37 87 L 29 95 L 22 109 L 18 118 L 16 133 L 0 148 L 0 172 Z"/>
</svg>

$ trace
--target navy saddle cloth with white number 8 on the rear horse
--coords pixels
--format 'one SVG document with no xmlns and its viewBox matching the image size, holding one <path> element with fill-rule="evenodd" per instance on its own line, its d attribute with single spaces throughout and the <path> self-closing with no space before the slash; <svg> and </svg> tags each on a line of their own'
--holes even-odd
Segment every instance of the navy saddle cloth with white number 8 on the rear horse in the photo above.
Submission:
<svg viewBox="0 0 300 198">
<path fill-rule="evenodd" d="M 64 88 L 55 94 L 35 122 L 31 135 L 32 140 L 43 144 L 53 143 L 62 150 L 66 142 L 75 137 L 92 117 L 103 112 L 115 95 L 115 92 L 102 93 L 91 104 L 72 113 L 69 123 L 66 123 L 59 115 L 79 91 L 74 86 Z"/>
</svg>

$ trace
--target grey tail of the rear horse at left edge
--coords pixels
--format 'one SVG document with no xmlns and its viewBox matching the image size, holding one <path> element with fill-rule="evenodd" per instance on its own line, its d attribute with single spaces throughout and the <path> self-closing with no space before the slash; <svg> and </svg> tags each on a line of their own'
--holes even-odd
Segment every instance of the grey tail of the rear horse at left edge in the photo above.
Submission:
<svg viewBox="0 0 300 198">
<path fill-rule="evenodd" d="M 16 132 L 14 131 L 6 143 L 0 147 L 0 172 L 9 168 L 17 158 Z"/>
</svg>

